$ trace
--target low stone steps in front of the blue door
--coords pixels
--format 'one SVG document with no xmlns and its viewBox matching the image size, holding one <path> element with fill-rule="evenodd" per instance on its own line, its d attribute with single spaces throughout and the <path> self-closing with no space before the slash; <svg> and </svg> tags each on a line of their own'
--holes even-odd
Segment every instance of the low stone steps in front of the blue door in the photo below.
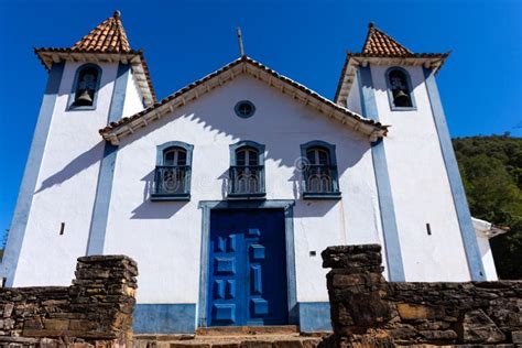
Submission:
<svg viewBox="0 0 522 348">
<path fill-rule="evenodd" d="M 133 348 L 315 348 L 329 334 L 303 334 L 295 325 L 213 327 L 196 335 L 134 335 Z"/>
</svg>

